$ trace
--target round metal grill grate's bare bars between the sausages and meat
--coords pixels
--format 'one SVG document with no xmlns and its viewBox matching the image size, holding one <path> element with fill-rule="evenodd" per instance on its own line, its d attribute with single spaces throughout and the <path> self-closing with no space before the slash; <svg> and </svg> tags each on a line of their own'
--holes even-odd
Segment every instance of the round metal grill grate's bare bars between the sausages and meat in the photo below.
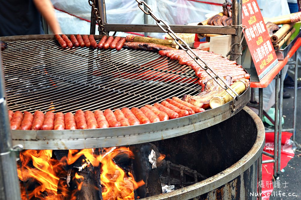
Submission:
<svg viewBox="0 0 301 200">
<path fill-rule="evenodd" d="M 12 111 L 115 110 L 200 90 L 192 69 L 154 52 L 61 49 L 53 40 L 8 47 L 2 59 Z"/>
</svg>

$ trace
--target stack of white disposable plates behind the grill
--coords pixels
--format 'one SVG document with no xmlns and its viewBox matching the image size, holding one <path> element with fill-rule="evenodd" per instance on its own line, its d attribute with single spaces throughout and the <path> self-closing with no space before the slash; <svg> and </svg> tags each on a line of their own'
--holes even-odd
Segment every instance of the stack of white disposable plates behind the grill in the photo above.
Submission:
<svg viewBox="0 0 301 200">
<path fill-rule="evenodd" d="M 214 53 L 221 54 L 226 57 L 231 46 L 231 36 L 222 35 L 216 37 L 210 37 L 210 50 Z"/>
</svg>

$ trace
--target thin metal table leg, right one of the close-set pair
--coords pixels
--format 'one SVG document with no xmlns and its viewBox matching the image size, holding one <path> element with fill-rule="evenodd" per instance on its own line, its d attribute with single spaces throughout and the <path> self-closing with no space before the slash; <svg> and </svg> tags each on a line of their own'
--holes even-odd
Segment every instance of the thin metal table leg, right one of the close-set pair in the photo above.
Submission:
<svg viewBox="0 0 301 200">
<path fill-rule="evenodd" d="M 279 122 L 278 122 L 278 160 L 277 160 L 277 168 L 278 172 L 280 171 L 280 163 L 281 163 L 281 136 L 282 136 L 282 106 L 283 106 L 283 81 L 284 81 L 284 71 L 283 69 L 280 71 L 280 92 L 279 92 Z"/>
</svg>

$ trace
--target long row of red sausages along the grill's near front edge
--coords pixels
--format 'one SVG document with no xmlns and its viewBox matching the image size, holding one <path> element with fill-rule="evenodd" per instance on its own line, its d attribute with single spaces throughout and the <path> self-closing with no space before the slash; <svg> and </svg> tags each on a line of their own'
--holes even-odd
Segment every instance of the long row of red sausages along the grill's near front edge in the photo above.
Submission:
<svg viewBox="0 0 301 200">
<path fill-rule="evenodd" d="M 180 98 L 168 98 L 161 103 L 145 105 L 139 108 L 122 108 L 102 111 L 76 111 L 63 114 L 58 112 L 36 111 L 34 114 L 25 111 L 8 111 L 11 129 L 16 130 L 64 130 L 64 129 L 96 129 L 119 126 L 132 126 L 160 122 L 191 114 L 200 113 L 203 108 L 198 108 Z"/>
</svg>

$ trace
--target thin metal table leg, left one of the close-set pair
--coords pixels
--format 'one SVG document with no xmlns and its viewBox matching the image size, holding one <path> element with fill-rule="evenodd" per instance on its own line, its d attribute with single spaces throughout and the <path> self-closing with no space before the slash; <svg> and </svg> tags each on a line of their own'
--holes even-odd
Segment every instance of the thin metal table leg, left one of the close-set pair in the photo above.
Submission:
<svg viewBox="0 0 301 200">
<path fill-rule="evenodd" d="M 274 177 L 277 176 L 277 159 L 278 159 L 278 112 L 279 112 L 279 74 L 275 78 L 275 124 L 274 124 Z"/>
</svg>

